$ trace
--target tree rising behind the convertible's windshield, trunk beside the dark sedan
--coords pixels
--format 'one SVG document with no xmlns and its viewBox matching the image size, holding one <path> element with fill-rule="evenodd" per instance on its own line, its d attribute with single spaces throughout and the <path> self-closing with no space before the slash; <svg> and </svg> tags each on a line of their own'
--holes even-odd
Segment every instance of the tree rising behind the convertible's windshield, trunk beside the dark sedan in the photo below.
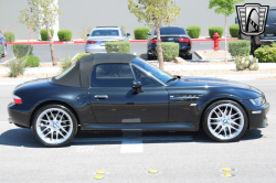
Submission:
<svg viewBox="0 0 276 183">
<path fill-rule="evenodd" d="M 156 28 L 158 62 L 159 67 L 163 69 L 160 26 L 171 23 L 179 17 L 180 8 L 171 0 L 128 0 L 128 9 L 139 22 L 146 22 L 148 26 Z"/>
</svg>

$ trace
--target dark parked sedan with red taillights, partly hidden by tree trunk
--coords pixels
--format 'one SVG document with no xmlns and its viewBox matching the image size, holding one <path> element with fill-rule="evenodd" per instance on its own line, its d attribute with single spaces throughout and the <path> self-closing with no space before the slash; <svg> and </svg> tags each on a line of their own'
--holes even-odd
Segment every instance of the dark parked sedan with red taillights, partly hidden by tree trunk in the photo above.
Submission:
<svg viewBox="0 0 276 183">
<path fill-rule="evenodd" d="M 156 29 L 148 32 L 148 60 L 157 57 L 157 34 Z M 187 31 L 179 25 L 168 25 L 160 28 L 160 35 L 162 42 L 179 43 L 179 55 L 185 60 L 192 60 L 192 40 L 188 35 Z"/>
</svg>

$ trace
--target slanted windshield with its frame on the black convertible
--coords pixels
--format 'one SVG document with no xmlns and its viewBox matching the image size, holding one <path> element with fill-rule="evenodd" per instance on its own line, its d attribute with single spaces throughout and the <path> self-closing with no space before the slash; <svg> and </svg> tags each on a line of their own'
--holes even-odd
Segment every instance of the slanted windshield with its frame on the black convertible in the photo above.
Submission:
<svg viewBox="0 0 276 183">
<path fill-rule="evenodd" d="M 147 67 L 140 66 L 139 64 L 137 64 L 137 62 L 141 62 L 142 64 L 147 65 L 148 68 L 151 68 L 151 71 L 150 71 L 150 69 L 147 69 Z M 173 78 L 173 76 L 170 75 L 169 73 L 167 73 L 167 72 L 164 72 L 164 71 L 162 71 L 162 69 L 160 69 L 159 67 L 157 67 L 157 66 L 155 66 L 155 65 L 152 65 L 152 64 L 150 64 L 150 63 L 144 61 L 142 58 L 139 58 L 139 57 L 136 57 L 135 60 L 132 60 L 132 61 L 131 61 L 131 65 L 134 65 L 134 66 L 140 68 L 140 69 L 144 71 L 148 76 L 153 77 L 156 80 L 158 80 L 159 83 L 161 83 L 163 86 L 168 86 L 167 82 L 168 82 L 169 79 Z M 153 69 L 155 72 L 159 73 L 159 76 L 167 76 L 167 78 L 166 78 L 166 77 L 164 77 L 164 78 L 159 77 L 158 75 L 156 75 L 155 73 L 152 73 L 152 69 Z"/>
</svg>

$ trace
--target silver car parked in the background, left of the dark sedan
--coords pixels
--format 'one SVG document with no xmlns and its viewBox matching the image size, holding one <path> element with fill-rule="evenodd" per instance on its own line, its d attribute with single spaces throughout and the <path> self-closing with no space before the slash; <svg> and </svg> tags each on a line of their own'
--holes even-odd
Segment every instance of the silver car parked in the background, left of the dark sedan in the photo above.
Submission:
<svg viewBox="0 0 276 183">
<path fill-rule="evenodd" d="M 129 33 L 120 26 L 96 26 L 87 34 L 86 53 L 106 53 L 105 42 L 129 42 Z"/>
</svg>

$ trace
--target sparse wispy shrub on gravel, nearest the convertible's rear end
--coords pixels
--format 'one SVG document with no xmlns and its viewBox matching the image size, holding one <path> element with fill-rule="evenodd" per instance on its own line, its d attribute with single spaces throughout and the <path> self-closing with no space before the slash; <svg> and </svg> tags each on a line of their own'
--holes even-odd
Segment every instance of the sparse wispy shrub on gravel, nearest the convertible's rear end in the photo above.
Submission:
<svg viewBox="0 0 276 183">
<path fill-rule="evenodd" d="M 18 77 L 19 75 L 23 75 L 25 71 L 25 60 L 19 61 L 18 58 L 12 60 L 8 63 L 9 76 L 10 77 Z"/>
</svg>

